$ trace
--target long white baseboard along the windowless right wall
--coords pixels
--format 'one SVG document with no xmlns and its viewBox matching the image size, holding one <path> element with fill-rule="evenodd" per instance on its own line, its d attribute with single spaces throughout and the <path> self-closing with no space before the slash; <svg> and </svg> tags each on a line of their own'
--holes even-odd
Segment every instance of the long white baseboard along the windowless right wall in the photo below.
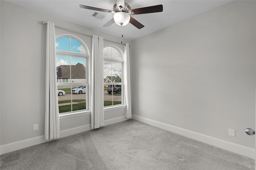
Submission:
<svg viewBox="0 0 256 170">
<path fill-rule="evenodd" d="M 182 129 L 182 128 L 175 127 L 175 126 L 172 126 L 172 125 L 168 125 L 166 123 L 161 123 L 161 122 L 158 122 L 158 121 L 154 121 L 154 120 L 151 120 L 151 119 L 140 117 L 140 116 L 137 116 L 137 115 L 132 115 L 132 119 L 141 121 L 143 123 L 146 123 L 146 124 L 149 124 L 149 125 L 152 125 L 152 126 L 155 126 L 155 127 L 159 127 L 161 129 L 164 129 L 164 130 L 167 130 L 167 131 L 170 131 L 170 132 L 177 133 L 179 135 L 183 135 L 185 137 L 195 139 L 197 141 L 201 141 L 203 143 L 207 143 L 209 145 L 212 145 L 212 146 L 215 146 L 215 147 L 218 147 L 218 148 L 221 148 L 221 149 L 225 149 L 225 150 L 228 150 L 228 151 L 231 151 L 231 152 L 234 152 L 234 153 L 237 153 L 237 154 L 255 159 L 255 149 L 252 149 L 252 148 L 244 147 L 242 145 L 237 145 L 235 143 L 231 143 L 231 142 L 228 142 L 228 141 L 224 141 L 224 140 L 221 140 L 221 139 L 217 139 L 217 138 L 214 138 L 214 137 L 210 137 L 210 136 L 207 136 L 207 135 L 203 135 L 203 134 L 200 134 L 200 133 L 196 133 L 196 132 L 193 132 L 193 131 Z"/>
</svg>

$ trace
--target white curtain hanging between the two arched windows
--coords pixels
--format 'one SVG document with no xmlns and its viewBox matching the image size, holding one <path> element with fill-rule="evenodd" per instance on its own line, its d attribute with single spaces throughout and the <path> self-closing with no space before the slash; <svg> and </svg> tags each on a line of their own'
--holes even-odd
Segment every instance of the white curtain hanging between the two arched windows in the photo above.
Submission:
<svg viewBox="0 0 256 170">
<path fill-rule="evenodd" d="M 92 129 L 104 126 L 103 38 L 92 36 Z"/>
</svg>

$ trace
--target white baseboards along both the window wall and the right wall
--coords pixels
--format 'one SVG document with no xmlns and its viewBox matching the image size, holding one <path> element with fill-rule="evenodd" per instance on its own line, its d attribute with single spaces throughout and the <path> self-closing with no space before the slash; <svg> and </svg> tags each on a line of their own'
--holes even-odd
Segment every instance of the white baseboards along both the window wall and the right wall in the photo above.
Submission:
<svg viewBox="0 0 256 170">
<path fill-rule="evenodd" d="M 217 139 L 217 138 L 214 138 L 214 137 L 210 137 L 210 136 L 207 136 L 207 135 L 203 135 L 203 134 L 200 134 L 200 133 L 196 133 L 196 132 L 193 132 L 193 131 L 182 129 L 182 128 L 175 127 L 175 126 L 172 126 L 172 125 L 168 125 L 168 124 L 165 124 L 165 123 L 161 123 L 161 122 L 158 122 L 158 121 L 154 121 L 154 120 L 151 120 L 151 119 L 140 117 L 140 116 L 137 116 L 137 115 L 132 115 L 132 119 L 135 119 L 135 120 L 141 121 L 143 123 L 147 123 L 149 125 L 159 127 L 161 129 L 165 129 L 167 131 L 171 131 L 171 132 L 174 132 L 174 133 L 177 133 L 177 134 L 180 134 L 180 135 L 192 138 L 192 139 L 195 139 L 197 141 L 201 141 L 201 142 L 213 145 L 215 147 L 219 147 L 219 148 L 222 148 L 222 149 L 225 149 L 225 150 L 228 150 L 228 151 L 231 151 L 231 152 L 235 152 L 237 154 L 241 154 L 241 155 L 248 156 L 250 158 L 255 159 L 255 149 L 244 147 L 242 145 L 237 145 L 235 143 L 230 143 L 228 141 L 223 141 L 221 139 Z M 118 122 L 125 121 L 125 120 L 127 120 L 127 118 L 124 117 L 124 116 L 116 117 L 114 119 L 105 120 L 104 124 L 106 126 L 106 125 L 111 125 L 113 123 L 118 123 Z M 60 132 L 60 138 L 67 137 L 67 136 L 70 136 L 70 135 L 74 135 L 74 134 L 77 134 L 77 133 L 81 133 L 81 132 L 84 132 L 84 131 L 89 131 L 89 130 L 91 130 L 91 124 L 80 126 L 80 127 L 75 127 L 75 128 L 72 128 L 72 129 L 67 129 L 67 130 L 64 130 L 64 131 Z M 12 151 L 23 149 L 23 148 L 26 148 L 26 147 L 31 147 L 33 145 L 38 145 L 40 143 L 45 143 L 45 142 L 48 142 L 48 141 L 44 140 L 44 135 L 42 135 L 42 136 L 39 136 L 39 137 L 34 137 L 34 138 L 30 138 L 30 139 L 26 139 L 26 140 L 14 142 L 14 143 L 9 143 L 9 144 L 6 144 L 6 145 L 1 145 L 0 146 L 0 154 L 12 152 Z"/>
</svg>

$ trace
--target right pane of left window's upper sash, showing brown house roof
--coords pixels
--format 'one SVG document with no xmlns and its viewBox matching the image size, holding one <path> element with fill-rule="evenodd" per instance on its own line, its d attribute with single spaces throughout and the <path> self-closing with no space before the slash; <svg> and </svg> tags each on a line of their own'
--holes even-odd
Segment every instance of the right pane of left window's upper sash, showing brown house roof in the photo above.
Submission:
<svg viewBox="0 0 256 170">
<path fill-rule="evenodd" d="M 86 82 L 86 59 L 79 57 L 71 57 L 71 82 Z"/>
</svg>

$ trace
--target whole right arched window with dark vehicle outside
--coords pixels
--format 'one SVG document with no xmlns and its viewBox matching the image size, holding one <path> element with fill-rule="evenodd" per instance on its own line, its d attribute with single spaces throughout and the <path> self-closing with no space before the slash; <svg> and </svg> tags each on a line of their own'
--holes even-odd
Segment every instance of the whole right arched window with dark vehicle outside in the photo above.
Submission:
<svg viewBox="0 0 256 170">
<path fill-rule="evenodd" d="M 123 53 L 114 46 L 104 48 L 104 106 L 123 104 Z"/>
</svg>

